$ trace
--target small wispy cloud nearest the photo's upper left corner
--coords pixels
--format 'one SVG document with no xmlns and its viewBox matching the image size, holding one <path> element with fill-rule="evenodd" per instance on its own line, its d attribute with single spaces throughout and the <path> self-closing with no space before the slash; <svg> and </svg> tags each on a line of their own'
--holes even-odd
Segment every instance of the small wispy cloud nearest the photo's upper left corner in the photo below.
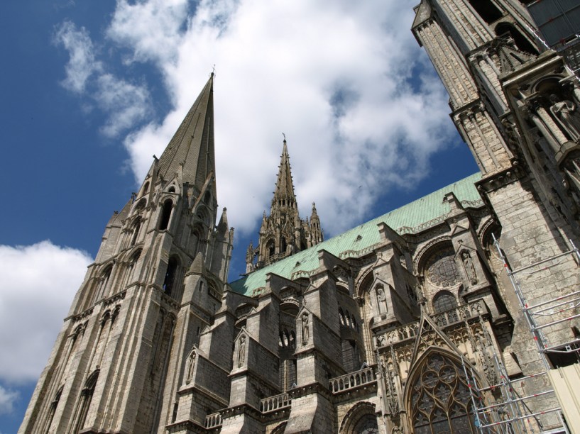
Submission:
<svg viewBox="0 0 580 434">
<path fill-rule="evenodd" d="M 65 66 L 67 77 L 62 80 L 62 86 L 82 93 L 89 77 L 101 69 L 100 62 L 94 58 L 94 47 L 87 29 L 77 29 L 74 23 L 65 21 L 58 26 L 54 40 L 57 45 L 63 45 L 70 56 Z"/>
</svg>

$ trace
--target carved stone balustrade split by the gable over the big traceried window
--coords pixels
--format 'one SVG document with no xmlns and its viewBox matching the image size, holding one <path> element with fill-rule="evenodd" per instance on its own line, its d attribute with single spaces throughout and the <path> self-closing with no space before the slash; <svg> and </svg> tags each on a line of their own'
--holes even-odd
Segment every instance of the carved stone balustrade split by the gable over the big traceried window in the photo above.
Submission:
<svg viewBox="0 0 580 434">
<path fill-rule="evenodd" d="M 474 318 L 480 313 L 488 313 L 486 304 L 483 303 L 483 301 L 473 301 L 469 304 L 451 308 L 449 311 L 437 313 L 437 315 L 432 316 L 432 318 L 439 327 L 445 327 L 458 321 Z M 376 347 L 384 347 L 385 345 L 392 345 L 394 343 L 402 342 L 403 340 L 415 338 L 418 329 L 419 321 L 400 325 L 397 328 L 376 335 L 375 345 Z"/>
</svg>

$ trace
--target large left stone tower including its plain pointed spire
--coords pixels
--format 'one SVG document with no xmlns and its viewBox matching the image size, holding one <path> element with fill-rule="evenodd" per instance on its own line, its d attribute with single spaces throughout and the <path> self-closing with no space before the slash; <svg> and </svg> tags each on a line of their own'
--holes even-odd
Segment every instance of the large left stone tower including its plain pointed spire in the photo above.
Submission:
<svg viewBox="0 0 580 434">
<path fill-rule="evenodd" d="M 233 229 L 217 220 L 213 74 L 107 223 L 20 433 L 154 433 L 221 305 Z"/>
</svg>

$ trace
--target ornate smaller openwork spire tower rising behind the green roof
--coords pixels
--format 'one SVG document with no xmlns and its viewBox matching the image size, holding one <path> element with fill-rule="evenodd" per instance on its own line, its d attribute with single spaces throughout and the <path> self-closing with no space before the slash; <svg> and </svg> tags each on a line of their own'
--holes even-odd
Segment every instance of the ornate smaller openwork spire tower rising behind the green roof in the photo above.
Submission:
<svg viewBox="0 0 580 434">
<path fill-rule="evenodd" d="M 276 188 L 270 206 L 270 216 L 264 211 L 258 245 L 250 243 L 246 252 L 246 272 L 264 267 L 323 240 L 320 218 L 312 204 L 310 221 L 298 214 L 294 183 L 290 169 L 288 145 L 284 139 Z M 256 262 L 257 257 L 257 262 Z"/>
</svg>

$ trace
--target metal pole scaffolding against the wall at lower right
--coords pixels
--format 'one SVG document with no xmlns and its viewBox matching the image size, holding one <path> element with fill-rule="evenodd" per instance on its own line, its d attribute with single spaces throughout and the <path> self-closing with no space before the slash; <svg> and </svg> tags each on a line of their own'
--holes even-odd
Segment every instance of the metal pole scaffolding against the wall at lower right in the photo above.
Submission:
<svg viewBox="0 0 580 434">
<path fill-rule="evenodd" d="M 508 258 L 495 236 L 493 236 L 493 243 L 498 251 L 500 260 L 503 262 L 503 267 L 508 274 L 510 283 L 513 286 L 515 295 L 518 298 L 520 308 L 525 317 L 527 326 L 535 340 L 538 355 L 544 367 L 544 370 L 525 377 L 517 379 L 510 379 L 505 366 L 503 365 L 501 357 L 497 354 L 492 345 L 493 364 L 498 373 L 499 381 L 497 384 L 491 386 L 481 386 L 478 384 L 477 377 L 471 367 L 466 367 L 464 362 L 464 372 L 468 379 L 469 389 L 471 393 L 471 401 L 474 406 L 474 422 L 476 428 L 480 433 L 569 433 L 569 428 L 564 422 L 564 416 L 561 406 L 549 406 L 549 401 L 542 408 L 541 411 L 532 411 L 528 403 L 532 399 L 543 399 L 544 396 L 552 396 L 552 402 L 557 403 L 557 396 L 553 388 L 537 391 L 535 394 L 520 395 L 515 390 L 515 384 L 524 380 L 532 379 L 534 377 L 548 376 L 549 370 L 554 368 L 553 359 L 551 357 L 567 357 L 568 362 L 571 357 L 577 357 L 580 353 L 580 338 L 567 340 L 566 342 L 549 342 L 546 335 L 547 329 L 559 325 L 574 318 L 579 318 L 580 313 L 577 308 L 580 306 L 580 291 L 572 291 L 569 294 L 554 296 L 547 301 L 542 301 L 537 304 L 528 304 L 527 297 L 522 291 L 520 280 L 516 277 L 518 274 L 535 274 L 552 268 L 562 263 L 566 257 L 574 257 L 576 266 L 580 263 L 580 252 L 572 242 L 569 240 L 570 248 L 566 252 L 558 255 L 548 257 L 547 259 L 534 262 L 525 267 L 518 269 L 511 269 Z M 485 328 L 484 328 L 485 330 Z M 549 381 L 546 381 L 549 384 Z M 500 391 L 500 402 L 496 404 L 486 405 L 484 394 L 486 392 Z M 556 427 L 550 430 L 544 430 L 540 416 L 555 413 L 557 415 Z M 559 425 L 558 425 L 559 424 Z"/>
</svg>

